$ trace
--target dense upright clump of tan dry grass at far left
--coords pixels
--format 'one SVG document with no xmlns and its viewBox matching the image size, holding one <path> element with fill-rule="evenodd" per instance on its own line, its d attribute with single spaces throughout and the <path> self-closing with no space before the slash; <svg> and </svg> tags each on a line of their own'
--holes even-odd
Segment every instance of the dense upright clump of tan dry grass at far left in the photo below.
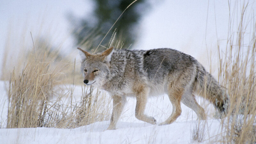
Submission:
<svg viewBox="0 0 256 144">
<path fill-rule="evenodd" d="M 7 128 L 42 127 L 49 97 L 58 73 L 49 63 L 28 63 L 19 76 L 13 70 L 9 81 Z"/>
</svg>

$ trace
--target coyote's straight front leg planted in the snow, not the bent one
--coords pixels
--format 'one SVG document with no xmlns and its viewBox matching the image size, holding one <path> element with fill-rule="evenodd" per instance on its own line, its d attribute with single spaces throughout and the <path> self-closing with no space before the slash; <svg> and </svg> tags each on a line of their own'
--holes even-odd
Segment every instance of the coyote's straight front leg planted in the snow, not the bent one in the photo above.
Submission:
<svg viewBox="0 0 256 144">
<path fill-rule="evenodd" d="M 116 123 L 121 116 L 121 113 L 124 109 L 124 104 L 126 103 L 125 97 L 121 97 L 118 95 L 113 95 L 113 111 L 112 116 L 110 119 L 110 124 L 108 126 L 107 130 L 115 130 L 116 129 Z"/>
</svg>

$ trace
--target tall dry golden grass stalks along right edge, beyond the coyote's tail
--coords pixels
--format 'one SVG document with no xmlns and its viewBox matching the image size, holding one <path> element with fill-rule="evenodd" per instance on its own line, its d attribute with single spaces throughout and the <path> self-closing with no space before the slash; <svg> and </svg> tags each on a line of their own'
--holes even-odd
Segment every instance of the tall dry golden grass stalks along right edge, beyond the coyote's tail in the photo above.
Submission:
<svg viewBox="0 0 256 144">
<path fill-rule="evenodd" d="M 224 133 L 216 140 L 220 143 L 256 143 L 256 22 L 249 4 L 239 4 L 235 2 L 233 9 L 229 2 L 226 50 L 222 51 L 218 45 L 218 81 L 229 94 L 228 115 L 222 120 Z M 240 14 L 236 16 L 238 11 Z M 240 19 L 234 25 L 237 17 Z M 203 133 L 204 129 L 194 128 L 193 140 L 195 137 L 201 141 L 200 137 L 197 138 L 197 135 L 201 136 L 200 132 Z"/>
</svg>

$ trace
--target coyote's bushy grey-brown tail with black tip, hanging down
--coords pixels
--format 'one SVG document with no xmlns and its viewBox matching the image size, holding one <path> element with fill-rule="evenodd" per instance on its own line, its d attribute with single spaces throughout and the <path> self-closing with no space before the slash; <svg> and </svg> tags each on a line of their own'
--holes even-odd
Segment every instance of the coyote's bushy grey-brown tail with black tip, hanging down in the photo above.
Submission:
<svg viewBox="0 0 256 144">
<path fill-rule="evenodd" d="M 205 99 L 210 100 L 214 107 L 220 111 L 220 114 L 226 116 L 228 111 L 228 94 L 212 75 L 205 71 L 203 66 L 197 68 L 194 91 Z"/>
</svg>

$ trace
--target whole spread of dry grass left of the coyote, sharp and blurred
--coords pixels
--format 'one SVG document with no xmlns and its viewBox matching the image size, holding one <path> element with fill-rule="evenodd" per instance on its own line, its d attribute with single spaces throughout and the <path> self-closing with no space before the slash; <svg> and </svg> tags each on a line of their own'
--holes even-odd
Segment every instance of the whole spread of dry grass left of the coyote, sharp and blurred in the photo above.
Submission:
<svg viewBox="0 0 256 144">
<path fill-rule="evenodd" d="M 63 58 L 60 51 L 40 39 L 30 49 L 22 48 L 15 68 L 3 64 L 2 80 L 10 77 L 7 128 L 74 128 L 109 120 L 106 104 L 110 99 L 104 93 L 87 86 L 75 88 L 83 79 L 80 62 Z M 3 61 L 8 62 L 7 57 Z M 75 89 L 81 93 L 75 96 Z"/>
</svg>

